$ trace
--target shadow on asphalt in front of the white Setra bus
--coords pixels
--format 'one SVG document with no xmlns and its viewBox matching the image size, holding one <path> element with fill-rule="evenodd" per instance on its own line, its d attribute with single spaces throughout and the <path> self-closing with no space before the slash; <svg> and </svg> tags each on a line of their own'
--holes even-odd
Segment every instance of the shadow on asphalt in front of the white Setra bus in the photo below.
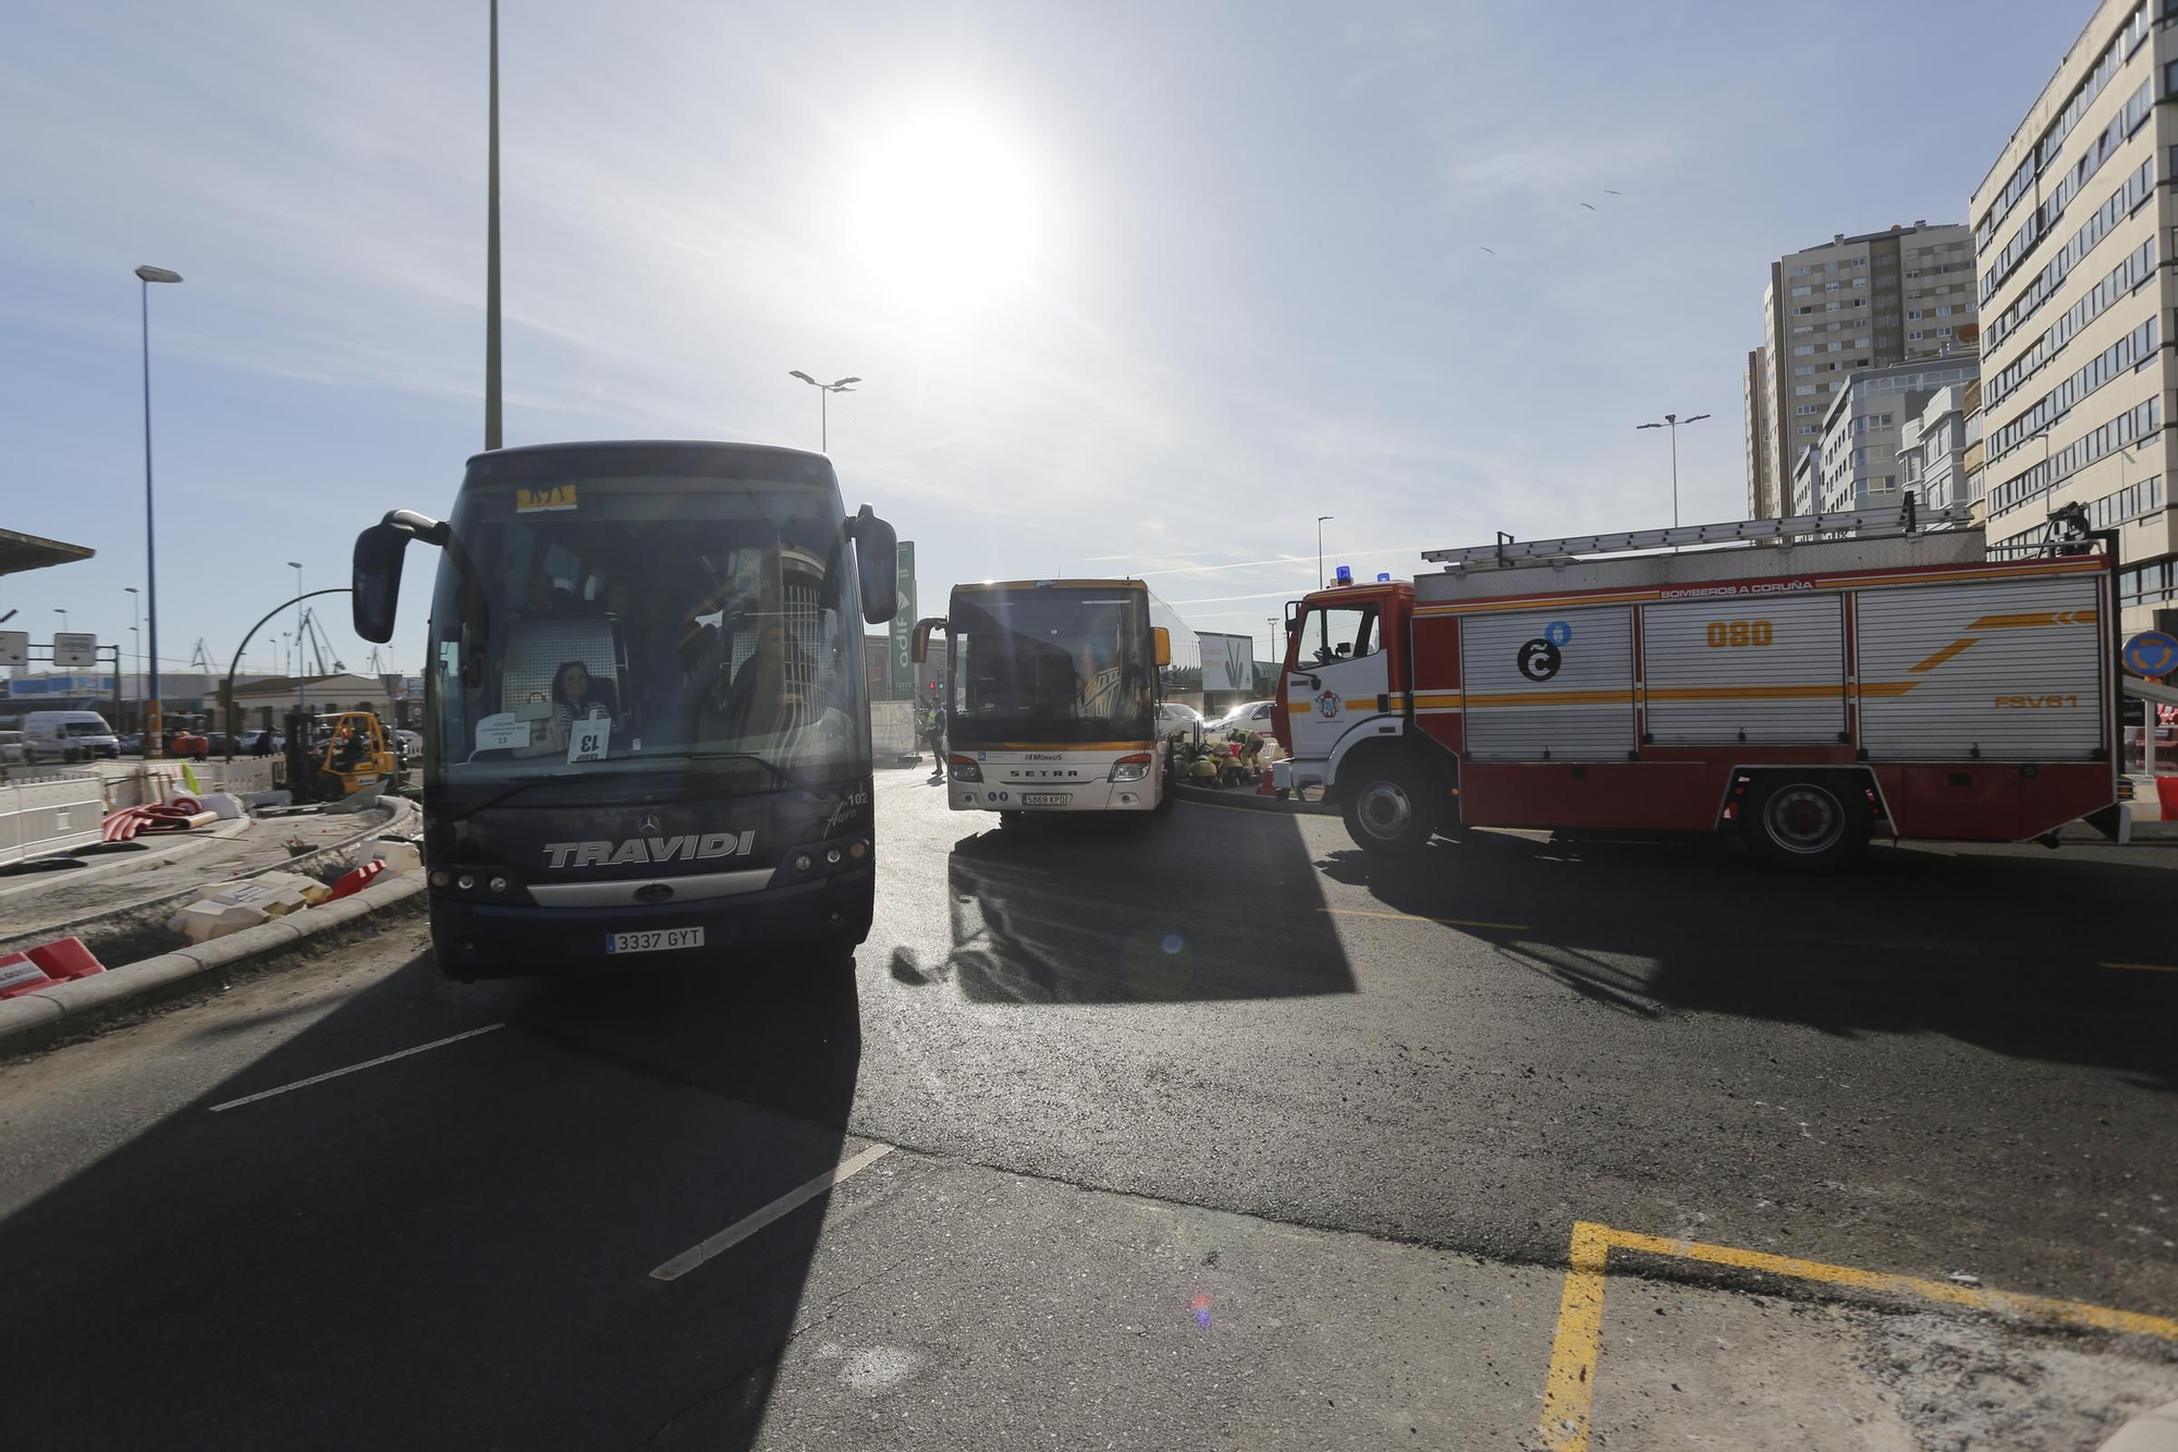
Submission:
<svg viewBox="0 0 2178 1452">
<path fill-rule="evenodd" d="M 1355 992 L 1296 824 L 1218 833 L 1207 815 L 1050 815 L 963 837 L 945 866 L 952 951 L 895 951 L 893 977 L 982 1003 Z"/>
</svg>

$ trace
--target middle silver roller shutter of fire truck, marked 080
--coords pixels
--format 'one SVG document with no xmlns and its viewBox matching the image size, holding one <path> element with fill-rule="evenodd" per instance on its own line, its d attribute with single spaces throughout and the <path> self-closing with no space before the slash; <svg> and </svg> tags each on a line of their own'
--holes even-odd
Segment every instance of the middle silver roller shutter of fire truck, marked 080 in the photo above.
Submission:
<svg viewBox="0 0 2178 1452">
<path fill-rule="evenodd" d="M 1657 743 L 1836 746 L 1845 602 L 1723 595 L 1644 606 L 1642 691 Z"/>
</svg>

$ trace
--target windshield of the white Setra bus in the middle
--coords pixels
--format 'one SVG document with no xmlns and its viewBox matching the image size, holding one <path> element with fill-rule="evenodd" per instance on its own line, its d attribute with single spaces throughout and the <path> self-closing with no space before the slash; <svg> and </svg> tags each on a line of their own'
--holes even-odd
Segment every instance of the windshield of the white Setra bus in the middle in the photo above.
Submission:
<svg viewBox="0 0 2178 1452">
<path fill-rule="evenodd" d="M 1152 735 L 1157 667 L 1139 589 L 960 591 L 947 639 L 958 746 Z"/>
</svg>

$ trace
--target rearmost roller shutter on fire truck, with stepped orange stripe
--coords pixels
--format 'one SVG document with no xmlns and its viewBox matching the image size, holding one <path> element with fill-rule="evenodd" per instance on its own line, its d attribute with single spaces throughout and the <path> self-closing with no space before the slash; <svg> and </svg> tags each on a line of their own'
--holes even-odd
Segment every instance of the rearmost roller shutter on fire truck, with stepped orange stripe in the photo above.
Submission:
<svg viewBox="0 0 2178 1452">
<path fill-rule="evenodd" d="M 1862 591 L 1871 761 L 2089 761 L 2104 743 L 2093 578 Z"/>
</svg>

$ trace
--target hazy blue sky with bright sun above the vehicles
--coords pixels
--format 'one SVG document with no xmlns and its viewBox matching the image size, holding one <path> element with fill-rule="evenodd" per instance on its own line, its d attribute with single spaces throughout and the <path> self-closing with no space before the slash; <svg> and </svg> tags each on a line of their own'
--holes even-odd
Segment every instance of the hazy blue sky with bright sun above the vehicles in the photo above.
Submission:
<svg viewBox="0 0 2178 1452">
<path fill-rule="evenodd" d="M 505 440 L 817 447 L 954 580 L 1146 576 L 1268 648 L 1326 565 L 1745 515 L 1769 262 L 1965 220 L 2087 0 L 505 0 Z M 1784 57 L 1790 57 L 1786 61 Z M 0 578 L 224 665 L 484 438 L 484 0 L 15 0 Z M 1588 203 L 1583 207 L 1581 203 Z M 1488 249 L 1488 251 L 1485 251 Z M 388 667 L 423 656 L 409 573 Z M 342 597 L 333 650 L 370 648 Z M 279 665 L 259 639 L 248 669 Z"/>
</svg>

